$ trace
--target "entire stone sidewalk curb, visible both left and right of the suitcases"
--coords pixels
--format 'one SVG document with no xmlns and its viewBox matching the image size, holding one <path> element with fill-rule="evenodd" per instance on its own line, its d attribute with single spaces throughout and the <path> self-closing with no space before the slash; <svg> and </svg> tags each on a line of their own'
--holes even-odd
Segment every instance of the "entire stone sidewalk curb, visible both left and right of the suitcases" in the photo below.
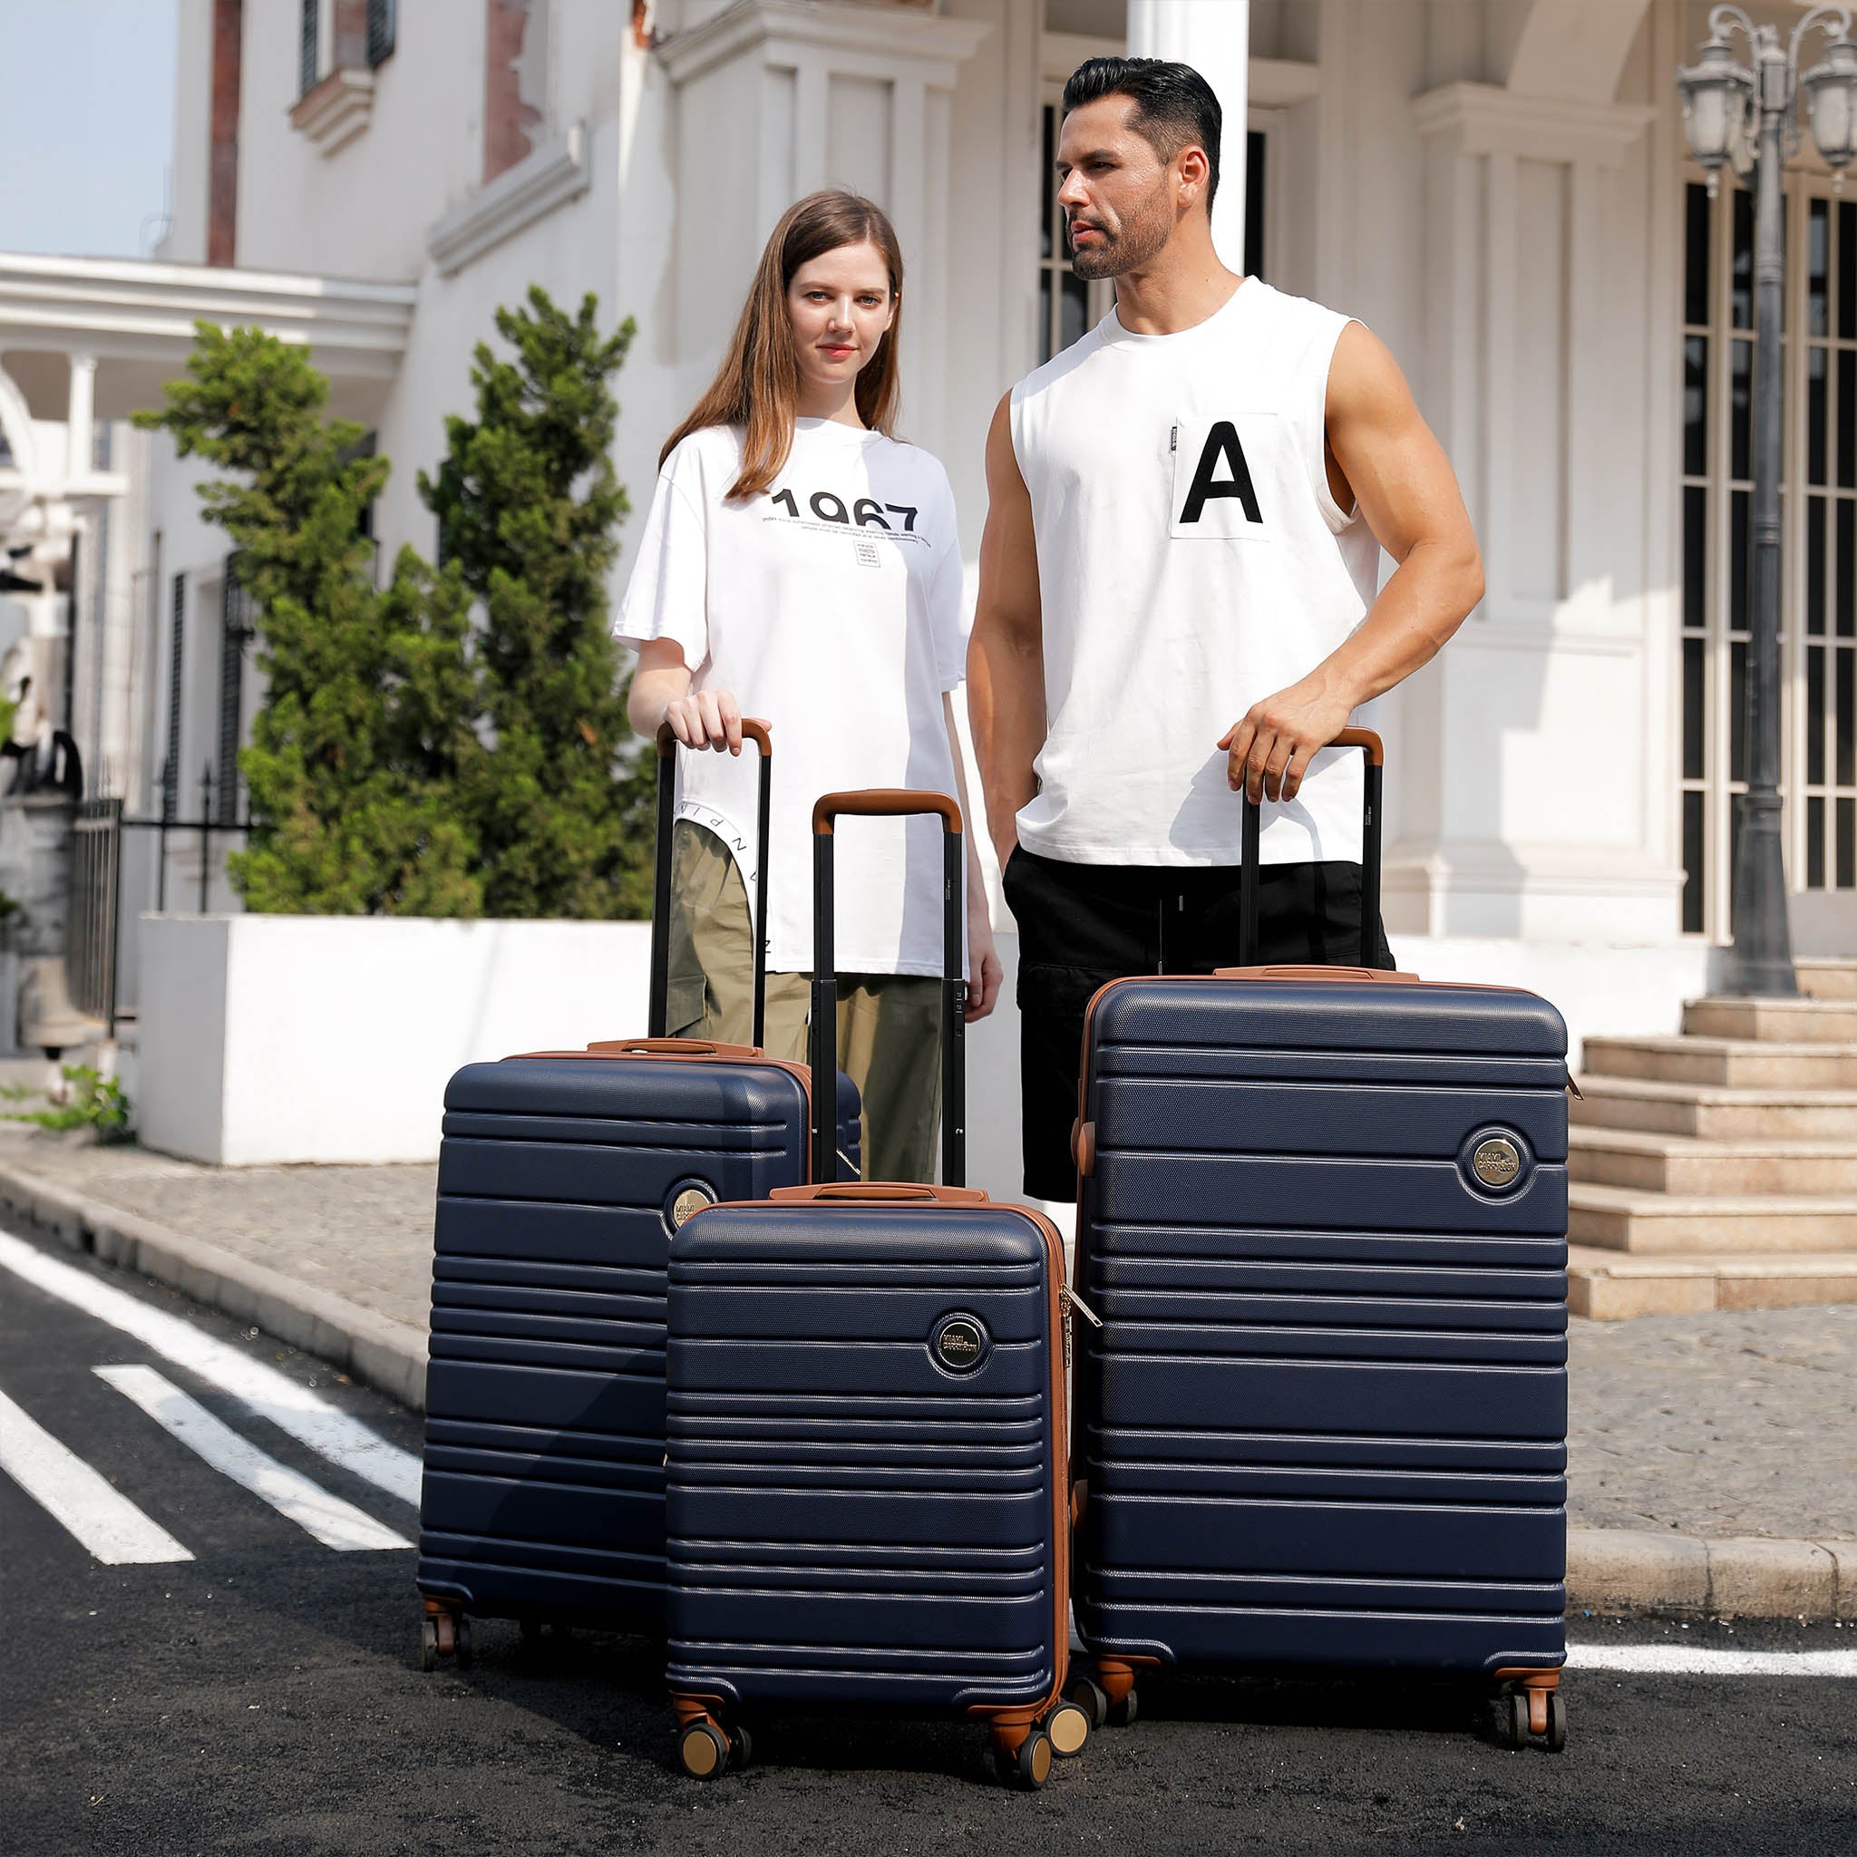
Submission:
<svg viewBox="0 0 1857 1857">
<path fill-rule="evenodd" d="M 169 1283 L 332 1361 L 412 1411 L 425 1409 L 425 1337 L 405 1322 L 7 1166 L 0 1166 L 0 1207 L 74 1252 Z M 1857 1541 L 1705 1541 L 1632 1528 L 1569 1528 L 1567 1610 L 1857 1621 Z"/>
</svg>

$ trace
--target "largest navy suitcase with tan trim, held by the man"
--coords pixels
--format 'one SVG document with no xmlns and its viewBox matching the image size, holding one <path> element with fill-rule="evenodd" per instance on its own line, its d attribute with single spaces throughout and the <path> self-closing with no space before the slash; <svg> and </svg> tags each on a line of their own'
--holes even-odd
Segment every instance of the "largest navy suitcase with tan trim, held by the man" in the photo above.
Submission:
<svg viewBox="0 0 1857 1857">
<path fill-rule="evenodd" d="M 1370 934 L 1380 743 L 1341 745 L 1369 750 Z M 1244 873 L 1255 849 L 1246 806 Z M 1465 1671 L 1517 1746 L 1564 1744 L 1565 1057 L 1532 993 L 1367 967 L 1096 995 L 1073 1463 L 1099 1690 L 1071 1694 L 1097 1720 L 1140 1666 Z"/>
</svg>

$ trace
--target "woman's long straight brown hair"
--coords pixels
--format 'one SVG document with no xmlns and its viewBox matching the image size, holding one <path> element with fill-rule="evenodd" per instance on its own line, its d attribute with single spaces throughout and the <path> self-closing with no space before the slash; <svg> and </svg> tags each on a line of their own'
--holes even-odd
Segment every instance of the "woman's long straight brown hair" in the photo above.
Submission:
<svg viewBox="0 0 1857 1857">
<path fill-rule="evenodd" d="M 897 228 L 884 210 L 858 193 L 808 193 L 786 210 L 769 234 L 767 249 L 754 273 L 741 321 L 728 344 L 709 390 L 691 416 L 665 440 L 657 453 L 663 464 L 672 449 L 709 425 L 739 425 L 741 475 L 730 485 L 728 500 L 741 501 L 765 490 L 793 449 L 793 420 L 800 403 L 800 364 L 793 349 L 793 319 L 787 314 L 787 288 L 793 273 L 813 258 L 841 245 L 875 245 L 890 271 L 890 293 L 897 314 L 877 344 L 877 353 L 858 370 L 854 397 L 864 423 L 893 436 L 897 423 L 897 338 L 903 329 L 903 247 Z"/>
</svg>

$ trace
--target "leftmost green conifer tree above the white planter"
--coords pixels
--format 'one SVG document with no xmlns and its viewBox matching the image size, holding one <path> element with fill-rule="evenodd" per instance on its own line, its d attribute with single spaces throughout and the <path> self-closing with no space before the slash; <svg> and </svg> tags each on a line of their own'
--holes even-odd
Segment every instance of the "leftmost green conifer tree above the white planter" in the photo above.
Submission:
<svg viewBox="0 0 1857 1857">
<path fill-rule="evenodd" d="M 206 520 L 238 544 L 266 676 L 240 756 L 253 834 L 232 882 L 253 910 L 475 916 L 461 797 L 483 747 L 462 578 L 407 548 L 375 589 L 362 516 L 386 459 L 325 418 L 329 384 L 301 347 L 258 329 L 197 334 L 188 379 L 136 423 L 240 474 L 201 488 Z"/>
</svg>

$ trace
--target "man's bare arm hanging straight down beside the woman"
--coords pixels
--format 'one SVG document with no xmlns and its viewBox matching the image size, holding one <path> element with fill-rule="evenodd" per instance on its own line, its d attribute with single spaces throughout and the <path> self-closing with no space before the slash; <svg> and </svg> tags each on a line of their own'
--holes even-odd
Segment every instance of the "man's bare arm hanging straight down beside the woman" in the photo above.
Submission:
<svg viewBox="0 0 1857 1857">
<path fill-rule="evenodd" d="M 1032 500 L 1012 451 L 1010 396 L 999 401 L 986 435 L 986 529 L 967 644 L 967 721 L 986 826 L 1005 869 L 1018 843 L 1018 812 L 1038 791 L 1032 761 L 1045 737 L 1038 550 Z"/>
</svg>

